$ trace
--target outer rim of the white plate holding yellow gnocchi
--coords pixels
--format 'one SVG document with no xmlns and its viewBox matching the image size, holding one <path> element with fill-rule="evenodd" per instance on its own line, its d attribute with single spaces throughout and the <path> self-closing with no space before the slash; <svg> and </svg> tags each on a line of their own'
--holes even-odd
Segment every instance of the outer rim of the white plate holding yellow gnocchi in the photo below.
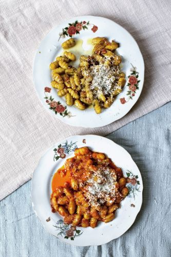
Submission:
<svg viewBox="0 0 171 257">
<path fill-rule="evenodd" d="M 104 126 L 107 126 L 107 125 L 109 125 L 109 124 L 111 124 L 111 123 L 117 121 L 117 120 L 122 119 L 123 117 L 125 117 L 125 116 L 130 112 L 130 110 L 132 109 L 132 107 L 135 106 L 135 104 L 137 103 L 138 99 L 140 98 L 141 93 L 142 93 L 142 89 L 143 89 L 143 86 L 144 86 L 145 64 L 144 64 L 144 58 L 143 58 L 142 52 L 141 52 L 140 47 L 139 47 L 137 41 L 135 40 L 134 36 L 132 36 L 131 33 L 130 33 L 127 29 L 125 29 L 124 27 L 122 27 L 120 24 L 116 23 L 115 21 L 113 21 L 113 20 L 111 20 L 111 19 L 108 19 L 108 18 L 106 18 L 106 17 L 103 17 L 103 16 L 83 15 L 83 16 L 74 16 L 74 17 L 70 17 L 69 19 L 64 20 L 63 22 L 61 22 L 61 23 L 59 23 L 59 24 L 53 26 L 53 27 L 44 35 L 43 39 L 41 40 L 40 44 L 38 44 L 38 46 L 37 46 L 37 48 L 36 48 L 36 50 L 35 50 L 35 54 L 34 54 L 34 58 L 33 58 L 33 63 L 32 63 L 32 81 L 33 81 L 33 85 L 34 85 L 34 90 L 36 91 L 36 95 L 37 95 L 37 97 L 39 98 L 39 101 L 41 102 L 41 105 L 43 106 L 44 109 L 46 109 L 47 112 L 50 113 L 50 115 L 51 115 L 52 117 L 54 117 L 53 112 L 51 112 L 51 110 L 50 110 L 49 108 L 46 108 L 46 107 L 45 107 L 45 105 L 44 105 L 44 103 L 43 103 L 43 100 L 41 99 L 41 97 L 40 97 L 39 94 L 38 94 L 38 91 L 36 90 L 35 79 L 34 79 L 34 68 L 35 68 L 35 59 L 36 59 L 37 51 L 39 50 L 39 48 L 40 48 L 42 42 L 45 40 L 46 36 L 48 36 L 48 34 L 51 32 L 51 30 L 53 30 L 54 28 L 57 28 L 58 26 L 62 25 L 63 23 L 68 23 L 68 21 L 71 20 L 71 19 L 81 19 L 81 17 L 90 17 L 90 18 L 91 18 L 91 17 L 93 17 L 93 18 L 95 17 L 95 18 L 100 18 L 100 19 L 104 19 L 104 20 L 107 20 L 107 21 L 110 21 L 110 22 L 115 23 L 117 26 L 121 27 L 126 33 L 129 34 L 129 36 L 132 38 L 132 40 L 134 41 L 134 43 L 137 45 L 137 47 L 138 47 L 138 49 L 139 49 L 139 52 L 140 52 L 140 54 L 141 54 L 141 59 L 142 59 L 142 79 L 141 79 L 141 83 L 142 83 L 142 86 L 141 86 L 141 88 L 139 88 L 139 95 L 138 95 L 137 98 L 134 100 L 134 101 L 135 101 L 134 104 L 133 104 L 132 106 L 129 106 L 129 107 L 127 108 L 126 113 L 123 114 L 123 115 L 121 115 L 120 118 L 117 118 L 116 120 L 113 120 L 113 121 L 111 121 L 111 122 L 107 122 L 107 123 L 105 123 L 105 124 L 100 124 L 100 125 L 97 124 L 97 125 L 92 125 L 92 126 L 91 126 L 91 125 L 85 126 L 85 125 L 82 125 L 82 124 L 78 124 L 78 125 L 75 125 L 74 123 L 70 124 L 70 122 L 68 122 L 67 119 L 62 119 L 61 117 L 55 115 L 55 117 L 56 117 L 58 120 L 62 121 L 63 123 L 65 123 L 65 124 L 67 124 L 67 125 L 73 126 L 73 127 L 84 127 L 84 128 L 98 128 L 98 127 L 104 127 Z"/>
</svg>

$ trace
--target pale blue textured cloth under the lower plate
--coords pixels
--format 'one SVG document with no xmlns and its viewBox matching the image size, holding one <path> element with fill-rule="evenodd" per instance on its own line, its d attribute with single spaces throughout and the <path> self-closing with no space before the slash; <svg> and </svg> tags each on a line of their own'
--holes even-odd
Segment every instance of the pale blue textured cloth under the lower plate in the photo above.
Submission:
<svg viewBox="0 0 171 257">
<path fill-rule="evenodd" d="M 171 254 L 171 102 L 107 137 L 136 161 L 143 179 L 143 204 L 134 225 L 102 246 L 76 247 L 49 235 L 33 213 L 31 181 L 0 202 L 3 257 L 169 257 Z"/>
</svg>

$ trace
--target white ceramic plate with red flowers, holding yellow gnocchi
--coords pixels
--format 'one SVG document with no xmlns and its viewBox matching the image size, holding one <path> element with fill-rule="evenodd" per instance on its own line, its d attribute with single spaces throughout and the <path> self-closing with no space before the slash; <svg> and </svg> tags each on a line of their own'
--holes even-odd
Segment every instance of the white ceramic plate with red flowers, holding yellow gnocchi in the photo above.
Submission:
<svg viewBox="0 0 171 257">
<path fill-rule="evenodd" d="M 90 48 L 90 45 L 87 44 L 87 40 L 96 36 L 105 36 L 110 41 L 114 39 L 120 44 L 117 52 L 122 56 L 122 70 L 126 74 L 126 84 L 122 93 L 117 96 L 110 108 L 103 109 L 103 112 L 100 115 L 97 115 L 93 108 L 80 111 L 77 107 L 67 106 L 65 109 L 65 98 L 59 97 L 56 89 L 52 88 L 50 85 L 52 79 L 49 64 L 55 60 L 56 56 L 60 56 L 63 51 L 61 44 L 69 38 L 66 35 L 65 39 L 61 37 L 59 40 L 59 34 L 62 31 L 67 33 L 65 28 L 69 28 L 75 21 L 78 21 L 79 23 L 82 22 L 82 26 L 86 26 L 86 28 L 84 27 L 84 30 L 82 29 L 79 33 L 73 35 L 74 39 L 83 40 L 84 49 L 87 50 Z M 83 24 L 83 22 L 86 22 L 86 24 Z M 73 29 L 74 32 L 74 26 L 71 29 Z M 96 29 L 97 31 L 93 32 Z M 72 48 L 70 48 L 70 51 L 76 53 L 79 58 L 81 52 L 74 51 Z M 128 76 L 132 77 L 128 78 Z M 54 27 L 45 36 L 40 47 L 36 51 L 33 65 L 33 82 L 44 107 L 48 109 L 52 115 L 55 115 L 69 125 L 100 127 L 125 116 L 137 102 L 143 88 L 144 61 L 134 38 L 132 38 L 132 36 L 117 23 L 96 16 L 73 17 Z M 45 90 L 45 87 L 50 89 L 46 88 Z M 49 90 L 49 92 L 47 92 L 47 90 Z M 47 99 L 45 99 L 45 97 L 47 97 Z M 57 107 L 57 112 L 49 109 L 48 103 L 52 101 L 51 99 L 61 102 L 61 105 Z M 61 114 L 59 112 L 61 112 Z"/>
</svg>

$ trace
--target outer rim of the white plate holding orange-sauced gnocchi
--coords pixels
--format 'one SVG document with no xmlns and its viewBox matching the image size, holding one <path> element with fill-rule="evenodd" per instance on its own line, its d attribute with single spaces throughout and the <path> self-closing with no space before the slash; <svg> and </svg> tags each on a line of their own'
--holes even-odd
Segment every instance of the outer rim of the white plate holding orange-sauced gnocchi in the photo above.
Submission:
<svg viewBox="0 0 171 257">
<path fill-rule="evenodd" d="M 129 158 L 131 159 L 131 161 L 134 162 L 135 166 L 137 167 L 137 169 L 138 169 L 139 172 L 140 172 L 140 176 L 141 176 L 141 180 L 142 180 L 142 185 L 141 185 L 141 186 L 142 186 L 142 191 L 140 192 L 140 193 L 141 193 L 141 195 L 140 195 L 140 196 L 141 196 L 141 204 L 140 204 L 139 208 L 137 209 L 137 213 L 136 213 L 136 215 L 135 215 L 135 218 L 132 219 L 131 225 L 129 226 L 129 228 L 128 228 L 125 232 L 123 232 L 122 234 L 120 234 L 119 236 L 117 236 L 117 237 L 115 237 L 115 238 L 112 238 L 111 240 L 108 240 L 108 241 L 104 242 L 103 244 L 89 244 L 89 245 L 80 245 L 80 244 L 79 244 L 79 245 L 78 245 L 78 244 L 75 243 L 74 241 L 72 241 L 72 244 L 70 244 L 69 241 L 65 241 L 64 238 L 61 238 L 61 237 L 58 237 L 58 236 L 52 234 L 52 233 L 48 230 L 48 228 L 45 227 L 45 225 L 44 225 L 43 222 L 41 221 L 41 218 L 40 218 L 39 215 L 37 214 L 37 212 L 36 212 L 36 210 L 35 210 L 35 205 L 34 205 L 34 203 L 33 203 L 33 180 L 34 180 L 34 175 L 35 175 L 36 169 L 39 167 L 39 164 L 40 164 L 42 158 L 43 158 L 44 155 L 45 155 L 50 149 L 52 149 L 56 144 L 59 144 L 59 143 L 61 143 L 62 141 L 71 139 L 71 138 L 73 138 L 73 137 L 75 137 L 75 136 L 78 136 L 78 137 L 93 136 L 93 137 L 97 137 L 97 138 L 105 138 L 106 140 L 111 141 L 113 144 L 117 144 L 115 141 L 113 141 L 113 140 L 111 140 L 111 139 L 109 139 L 109 138 L 103 137 L 103 136 L 93 135 L 93 134 L 86 134 L 86 135 L 73 135 L 73 136 L 69 136 L 69 137 L 64 138 L 64 139 L 62 139 L 61 141 L 56 142 L 55 144 L 51 145 L 48 149 L 46 149 L 46 150 L 44 151 L 44 153 L 42 154 L 41 158 L 40 158 L 39 161 L 37 162 L 36 168 L 35 168 L 34 171 L 33 171 L 33 174 L 32 174 L 32 177 L 31 177 L 31 192 L 30 192 L 31 205 L 32 205 L 32 208 L 33 208 L 33 211 L 34 211 L 36 217 L 39 219 L 39 221 L 41 222 L 41 224 L 42 224 L 42 226 L 44 227 L 44 229 L 45 229 L 50 235 L 54 236 L 55 238 L 59 239 L 60 241 L 62 241 L 62 242 L 64 242 L 64 243 L 67 243 L 67 244 L 69 244 L 69 245 L 81 246 L 81 247 L 84 247 L 84 246 L 99 246 L 99 245 L 104 245 L 104 244 L 107 244 L 107 243 L 111 242 L 112 240 L 116 240 L 117 238 L 119 238 L 120 236 L 122 236 L 124 233 L 126 233 L 126 232 L 130 229 L 130 227 L 135 223 L 135 220 L 136 220 L 137 215 L 139 214 L 139 212 L 140 212 L 140 210 L 141 210 L 142 202 L 143 202 L 143 180 L 142 180 L 141 172 L 140 172 L 140 170 L 139 170 L 139 168 L 138 168 L 136 162 L 132 159 L 132 157 L 131 157 L 131 155 L 129 154 L 129 152 L 128 152 L 127 150 L 125 150 L 125 148 L 123 148 L 123 146 L 121 146 L 120 144 L 117 144 L 117 145 L 120 146 L 121 149 L 123 149 L 124 151 L 126 151 L 126 153 L 128 154 Z"/>
</svg>

